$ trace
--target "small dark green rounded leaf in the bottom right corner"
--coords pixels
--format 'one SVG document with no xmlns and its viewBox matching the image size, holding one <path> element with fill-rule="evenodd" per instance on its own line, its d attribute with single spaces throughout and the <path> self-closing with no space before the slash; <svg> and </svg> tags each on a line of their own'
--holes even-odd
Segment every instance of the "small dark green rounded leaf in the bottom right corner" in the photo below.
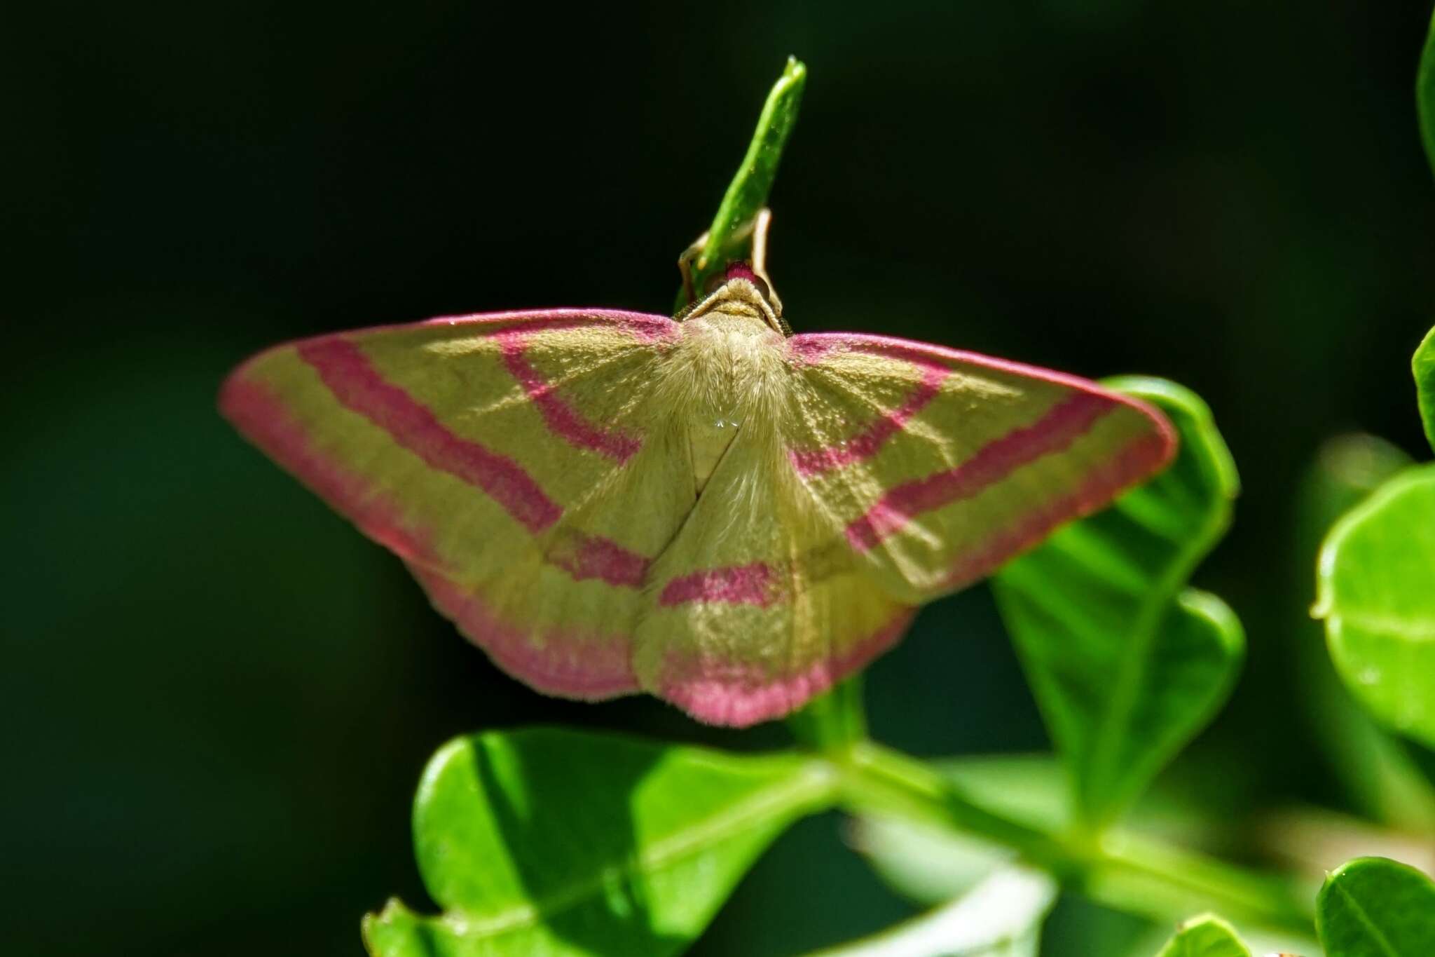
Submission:
<svg viewBox="0 0 1435 957">
<path fill-rule="evenodd" d="M 1356 858 L 1332 871 L 1316 898 L 1326 957 L 1435 954 L 1435 882 L 1386 858 Z"/>
</svg>

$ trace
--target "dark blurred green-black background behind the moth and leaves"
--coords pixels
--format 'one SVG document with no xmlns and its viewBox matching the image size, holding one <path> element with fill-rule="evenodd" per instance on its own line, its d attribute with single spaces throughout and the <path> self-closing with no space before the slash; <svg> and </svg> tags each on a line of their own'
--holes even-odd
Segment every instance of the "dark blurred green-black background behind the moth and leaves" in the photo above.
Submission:
<svg viewBox="0 0 1435 957">
<path fill-rule="evenodd" d="M 772 199 L 792 324 L 1200 392 L 1246 494 L 1198 581 L 1241 614 L 1250 661 L 1177 773 L 1213 806 L 1342 806 L 1290 706 L 1293 647 L 1317 640 L 1293 496 L 1332 433 L 1421 451 L 1428 13 L 9 4 L 6 953 L 357 954 L 364 910 L 426 904 L 409 799 L 459 732 L 785 740 L 505 679 L 214 393 L 291 336 L 666 311 L 788 53 L 811 70 Z M 868 684 L 875 733 L 914 752 L 1045 746 L 982 588 L 928 607 Z M 792 953 L 907 913 L 839 841 L 835 816 L 785 836 L 702 953 Z"/>
</svg>

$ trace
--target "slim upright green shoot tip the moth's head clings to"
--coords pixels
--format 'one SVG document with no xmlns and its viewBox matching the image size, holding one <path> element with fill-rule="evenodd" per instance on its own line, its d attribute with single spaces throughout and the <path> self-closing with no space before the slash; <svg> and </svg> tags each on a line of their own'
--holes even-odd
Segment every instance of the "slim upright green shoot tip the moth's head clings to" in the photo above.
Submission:
<svg viewBox="0 0 1435 957">
<path fill-rule="evenodd" d="M 752 224 L 762 207 L 768 205 L 772 179 L 778 175 L 778 162 L 782 159 L 782 146 L 798 119 L 804 86 L 806 86 L 806 67 L 789 56 L 782 76 L 768 93 L 762 116 L 758 118 L 758 129 L 748 145 L 748 155 L 742 158 L 742 165 L 728 185 L 712 225 L 707 227 L 707 241 L 693 260 L 693 288 L 699 296 L 709 277 L 722 273 L 735 260 L 748 258 Z M 679 290 L 677 307 L 683 306 L 687 306 L 687 297 Z"/>
</svg>

